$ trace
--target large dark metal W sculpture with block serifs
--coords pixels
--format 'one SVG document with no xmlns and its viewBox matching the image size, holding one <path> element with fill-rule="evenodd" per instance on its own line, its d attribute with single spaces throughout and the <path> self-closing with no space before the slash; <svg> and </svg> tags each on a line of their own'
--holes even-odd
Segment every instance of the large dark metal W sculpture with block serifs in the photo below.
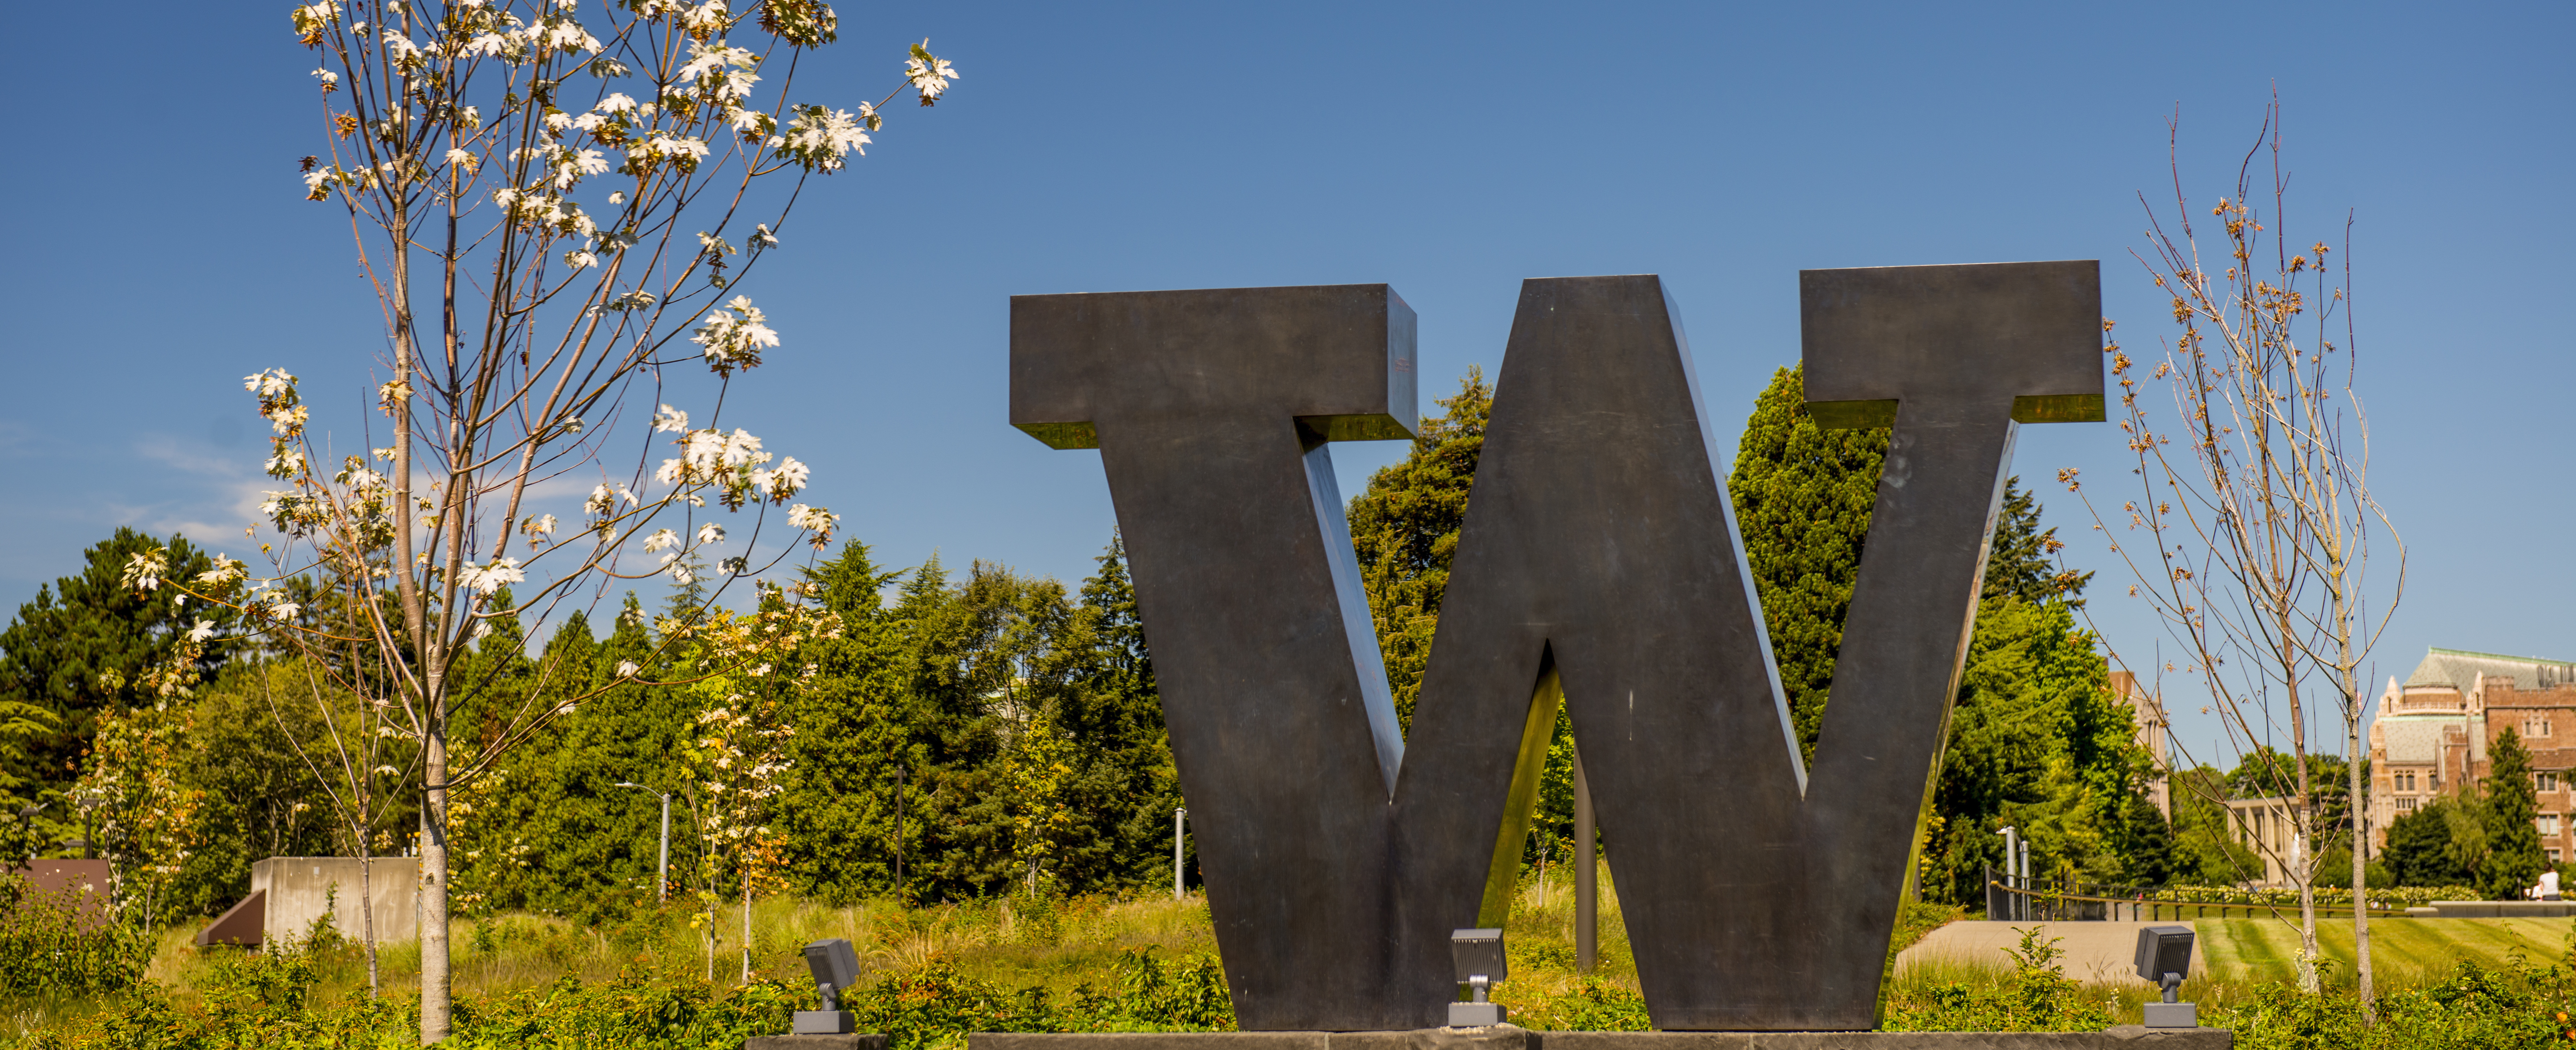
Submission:
<svg viewBox="0 0 2576 1050">
<path fill-rule="evenodd" d="M 1654 1024 L 1875 1027 L 2014 425 L 2102 419 L 2099 296 L 2097 262 L 1801 275 L 1814 417 L 1893 425 L 1816 769 L 1659 278 L 1522 283 L 1412 741 L 1329 445 L 1412 432 L 1404 299 L 1012 299 L 1010 422 L 1108 468 L 1239 1024 L 1443 1024 L 1564 703 Z"/>
</svg>

